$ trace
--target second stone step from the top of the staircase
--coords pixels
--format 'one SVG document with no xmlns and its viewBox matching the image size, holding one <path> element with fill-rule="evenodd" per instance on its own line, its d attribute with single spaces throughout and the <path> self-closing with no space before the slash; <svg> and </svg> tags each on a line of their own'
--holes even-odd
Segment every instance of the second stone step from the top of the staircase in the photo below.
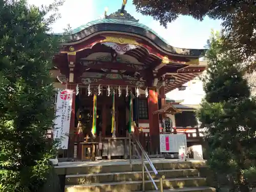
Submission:
<svg viewBox="0 0 256 192">
<path fill-rule="evenodd" d="M 153 179 L 156 175 L 150 171 Z M 197 169 L 167 169 L 158 170 L 159 175 L 164 175 L 165 178 L 186 178 L 198 177 Z M 145 179 L 149 180 L 145 172 Z M 117 172 L 117 173 L 97 173 L 97 174 L 80 174 L 80 175 L 66 175 L 66 185 L 89 184 L 89 183 L 106 183 L 119 181 L 140 181 L 142 180 L 142 172 Z"/>
</svg>

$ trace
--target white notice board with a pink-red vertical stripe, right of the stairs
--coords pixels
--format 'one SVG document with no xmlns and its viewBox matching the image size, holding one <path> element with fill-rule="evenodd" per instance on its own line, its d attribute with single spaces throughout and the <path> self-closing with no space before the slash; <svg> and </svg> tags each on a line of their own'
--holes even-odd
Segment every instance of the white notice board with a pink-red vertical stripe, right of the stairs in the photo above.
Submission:
<svg viewBox="0 0 256 192">
<path fill-rule="evenodd" d="M 179 153 L 180 146 L 187 151 L 186 134 L 160 134 L 161 153 Z"/>
</svg>

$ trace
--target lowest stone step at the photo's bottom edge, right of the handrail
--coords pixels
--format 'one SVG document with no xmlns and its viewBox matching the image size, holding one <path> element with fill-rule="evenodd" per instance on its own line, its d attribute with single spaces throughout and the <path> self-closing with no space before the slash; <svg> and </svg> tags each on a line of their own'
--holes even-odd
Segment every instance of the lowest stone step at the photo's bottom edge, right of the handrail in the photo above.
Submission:
<svg viewBox="0 0 256 192">
<path fill-rule="evenodd" d="M 143 191 L 134 191 L 134 192 L 143 192 Z M 148 190 L 147 192 L 159 192 L 159 190 Z M 212 187 L 183 187 L 183 188 L 164 189 L 163 192 L 216 192 L 216 189 Z"/>
</svg>

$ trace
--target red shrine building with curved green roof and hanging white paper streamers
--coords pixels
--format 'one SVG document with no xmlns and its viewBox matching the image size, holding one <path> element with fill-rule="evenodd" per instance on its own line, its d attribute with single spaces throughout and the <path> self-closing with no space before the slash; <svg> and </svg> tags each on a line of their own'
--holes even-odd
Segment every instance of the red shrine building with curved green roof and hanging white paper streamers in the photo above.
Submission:
<svg viewBox="0 0 256 192">
<path fill-rule="evenodd" d="M 165 94 L 184 90 L 183 84 L 206 67 L 199 63 L 204 49 L 172 47 L 125 10 L 105 12 L 104 18 L 72 30 L 66 39 L 53 58 L 52 76 L 55 88 L 74 90 L 72 134 L 78 113 L 92 126 L 93 109 L 97 109 L 96 137 L 113 137 L 114 112 L 116 138 L 126 137 L 131 121 L 148 130 L 152 138 L 159 138 L 162 119 L 171 110 L 169 105 L 161 111 L 167 106 Z M 158 148 L 158 140 L 152 148 Z M 68 156 L 73 156 L 75 142 L 69 139 Z"/>
</svg>

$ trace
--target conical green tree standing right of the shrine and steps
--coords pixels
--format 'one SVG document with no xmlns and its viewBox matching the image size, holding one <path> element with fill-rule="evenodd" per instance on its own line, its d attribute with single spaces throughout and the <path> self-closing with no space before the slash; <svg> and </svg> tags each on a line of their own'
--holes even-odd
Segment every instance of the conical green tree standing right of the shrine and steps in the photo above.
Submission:
<svg viewBox="0 0 256 192">
<path fill-rule="evenodd" d="M 237 60 L 223 49 L 221 34 L 212 33 L 208 44 L 206 95 L 198 112 L 206 129 L 207 163 L 229 181 L 229 189 L 246 192 L 256 181 L 256 100 Z"/>
</svg>

